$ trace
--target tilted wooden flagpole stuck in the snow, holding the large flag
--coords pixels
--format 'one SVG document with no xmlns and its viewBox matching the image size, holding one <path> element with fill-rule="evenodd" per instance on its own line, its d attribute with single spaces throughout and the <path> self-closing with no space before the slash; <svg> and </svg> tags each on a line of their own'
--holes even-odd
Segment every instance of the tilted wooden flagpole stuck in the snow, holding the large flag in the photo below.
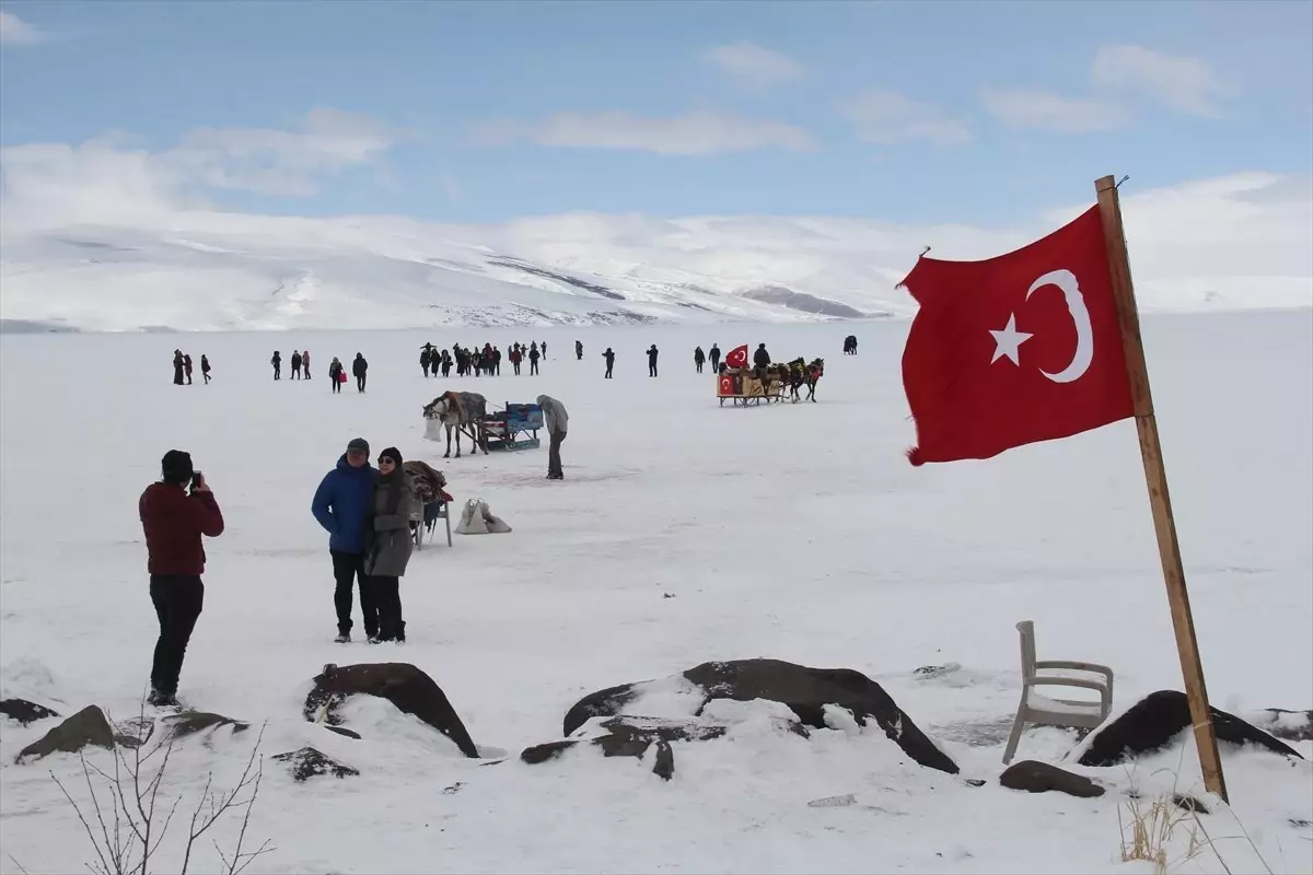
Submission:
<svg viewBox="0 0 1313 875">
<path fill-rule="evenodd" d="M 1158 420 L 1154 417 L 1153 395 L 1149 391 L 1149 369 L 1145 363 L 1144 341 L 1140 337 L 1140 312 L 1136 307 L 1136 290 L 1130 283 L 1127 237 L 1121 227 L 1121 201 L 1117 198 L 1117 184 L 1111 176 L 1096 180 L 1094 189 L 1099 195 L 1099 215 L 1103 218 L 1103 237 L 1108 247 L 1112 293 L 1117 303 L 1117 321 L 1121 325 L 1121 348 L 1130 376 L 1136 430 L 1140 433 L 1140 457 L 1145 466 L 1149 506 L 1153 510 L 1153 527 L 1158 537 L 1162 576 L 1167 584 L 1167 602 L 1171 606 L 1171 626 L 1176 632 L 1180 672 L 1186 680 L 1186 698 L 1190 699 L 1190 719 L 1195 729 L 1195 745 L 1199 748 L 1199 765 L 1204 771 L 1204 786 L 1229 803 L 1222 761 L 1217 753 L 1212 710 L 1208 704 L 1208 689 L 1204 686 L 1204 665 L 1199 659 L 1199 641 L 1195 639 L 1195 619 L 1190 613 L 1190 593 L 1186 592 L 1186 569 L 1180 560 L 1180 543 L 1176 540 L 1176 519 L 1171 513 L 1171 496 L 1167 493 L 1167 471 L 1163 467 L 1162 445 L 1158 441 Z"/>
</svg>

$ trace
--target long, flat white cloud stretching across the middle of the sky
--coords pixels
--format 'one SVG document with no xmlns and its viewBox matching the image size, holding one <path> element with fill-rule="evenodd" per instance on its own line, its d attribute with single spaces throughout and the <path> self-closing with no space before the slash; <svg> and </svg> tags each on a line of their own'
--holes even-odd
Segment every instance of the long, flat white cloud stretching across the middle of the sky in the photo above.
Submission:
<svg viewBox="0 0 1313 875">
<path fill-rule="evenodd" d="M 482 122 L 474 125 L 471 131 L 478 139 L 488 143 L 504 144 L 525 139 L 538 146 L 634 150 L 658 155 L 813 148 L 811 135 L 801 127 L 705 110 L 672 117 L 634 115 L 624 112 L 555 113 L 540 122 Z"/>
</svg>

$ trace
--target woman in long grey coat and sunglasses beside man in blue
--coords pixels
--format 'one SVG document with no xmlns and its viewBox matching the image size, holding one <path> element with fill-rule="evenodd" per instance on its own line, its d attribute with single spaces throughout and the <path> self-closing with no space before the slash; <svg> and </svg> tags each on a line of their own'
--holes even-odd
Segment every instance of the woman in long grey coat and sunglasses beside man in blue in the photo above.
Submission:
<svg viewBox="0 0 1313 875">
<path fill-rule="evenodd" d="M 410 475 L 402 468 L 400 451 L 390 446 L 378 454 L 378 475 L 365 525 L 365 573 L 378 605 L 378 638 L 374 641 L 406 641 L 402 619 L 400 579 L 406 576 L 411 550 L 411 513 L 419 509 Z"/>
</svg>

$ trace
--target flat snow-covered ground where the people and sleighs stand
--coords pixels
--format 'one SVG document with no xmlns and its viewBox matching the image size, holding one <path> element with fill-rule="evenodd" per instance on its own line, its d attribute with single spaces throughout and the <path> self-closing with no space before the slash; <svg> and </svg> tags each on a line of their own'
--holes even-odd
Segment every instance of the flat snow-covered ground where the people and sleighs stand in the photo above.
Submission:
<svg viewBox="0 0 1313 875">
<path fill-rule="evenodd" d="M 312 744 L 361 770 L 295 784 L 265 762 L 253 872 L 1094 872 L 1120 863 L 1132 786 L 1201 794 L 1192 746 L 1082 770 L 1102 799 L 998 786 L 1018 698 L 1018 632 L 1043 657 L 1106 662 L 1116 706 L 1180 672 L 1136 446 L 1120 422 L 979 463 L 913 468 L 898 359 L 906 323 L 360 333 L 50 335 L 0 342 L 0 695 L 71 714 L 137 712 L 156 632 L 137 497 L 171 447 L 192 451 L 226 514 L 207 544 L 205 613 L 181 695 L 268 720 L 268 754 Z M 574 361 L 572 341 L 586 346 Z M 1145 338 L 1209 693 L 1250 714 L 1313 706 L 1313 315 L 1152 316 Z M 425 382 L 419 346 L 548 340 L 537 378 Z M 765 341 L 823 356 L 817 404 L 721 408 L 696 344 Z M 641 350 L 656 342 L 662 375 Z M 309 348 L 315 379 L 272 382 L 273 349 Z M 171 386 L 181 345 L 214 383 Z M 601 379 L 601 350 L 618 353 Z M 332 396 L 328 361 L 364 352 L 369 391 Z M 509 369 L 507 369 L 509 370 Z M 197 379 L 200 383 L 200 379 Z M 446 387 L 491 403 L 538 392 L 570 409 L 566 480 L 546 451 L 441 460 L 420 407 Z M 349 438 L 397 445 L 482 496 L 511 534 L 456 537 L 403 580 L 403 648 L 335 645 L 327 535 L 310 516 Z M 358 615 L 357 615 L 358 623 Z M 358 627 L 357 627 L 358 628 Z M 876 678 L 962 766 L 918 767 L 878 731 L 780 736 L 746 708 L 730 737 L 649 763 L 588 749 L 524 765 L 582 695 L 718 659 L 767 656 Z M 356 706 L 356 741 L 305 723 L 326 662 L 408 661 L 500 765 L 391 706 Z M 958 664 L 937 678 L 923 665 Z M 77 760 L 13 765 L 51 724 L 3 727 L 0 871 L 70 872 L 92 850 L 49 771 L 85 800 Z M 240 771 L 253 732 L 183 746 L 164 792 Z M 1071 746 L 1028 733 L 1019 758 Z M 1313 756 L 1313 743 L 1296 745 Z M 108 763 L 105 756 L 93 761 Z M 1313 766 L 1224 749 L 1236 816 L 1203 819 L 1232 871 L 1313 871 Z M 1155 771 L 1166 769 L 1166 771 Z M 986 779 L 982 787 L 966 778 Z M 855 804 L 809 807 L 853 794 Z M 185 815 L 184 826 L 185 826 Z M 1241 836 L 1243 824 L 1249 838 Z M 1123 809 L 1123 819 L 1125 813 Z M 238 823 L 222 823 L 227 845 Z M 181 826 L 175 826 L 180 832 Z M 1250 845 L 1250 840 L 1253 845 Z M 167 842 L 159 871 L 177 871 Z M 1186 871 L 1221 871 L 1204 855 Z M 215 871 L 206 845 L 193 871 Z"/>
</svg>

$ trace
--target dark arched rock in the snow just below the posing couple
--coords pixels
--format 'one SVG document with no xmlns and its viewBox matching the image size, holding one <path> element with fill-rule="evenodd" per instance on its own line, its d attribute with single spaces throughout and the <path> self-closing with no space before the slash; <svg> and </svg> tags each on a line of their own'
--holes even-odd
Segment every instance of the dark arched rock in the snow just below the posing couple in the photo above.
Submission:
<svg viewBox="0 0 1313 875">
<path fill-rule="evenodd" d="M 479 758 L 474 740 L 461 723 L 456 708 L 446 701 L 442 687 L 424 672 L 407 662 L 365 662 L 361 665 L 326 665 L 315 678 L 302 711 L 315 722 L 322 710 L 328 725 L 341 725 L 337 707 L 352 695 L 377 695 L 406 714 L 412 714 L 456 743 L 466 757 Z"/>
</svg>

